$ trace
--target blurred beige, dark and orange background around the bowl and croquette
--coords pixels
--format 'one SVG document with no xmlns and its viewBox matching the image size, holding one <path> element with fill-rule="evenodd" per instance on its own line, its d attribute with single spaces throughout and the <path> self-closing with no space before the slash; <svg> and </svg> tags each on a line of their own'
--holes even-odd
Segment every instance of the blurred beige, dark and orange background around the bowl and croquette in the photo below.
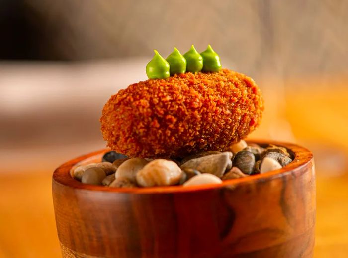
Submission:
<svg viewBox="0 0 348 258">
<path fill-rule="evenodd" d="M 61 257 L 51 176 L 105 147 L 111 94 L 167 57 L 211 44 L 265 98 L 249 138 L 311 149 L 315 257 L 348 254 L 347 0 L 0 1 L 0 257 Z"/>
</svg>

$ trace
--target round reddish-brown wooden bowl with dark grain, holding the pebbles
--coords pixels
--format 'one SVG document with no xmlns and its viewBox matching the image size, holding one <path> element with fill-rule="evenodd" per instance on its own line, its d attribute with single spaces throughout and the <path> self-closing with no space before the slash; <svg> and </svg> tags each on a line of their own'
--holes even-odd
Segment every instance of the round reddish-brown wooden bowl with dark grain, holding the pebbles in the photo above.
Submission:
<svg viewBox="0 0 348 258">
<path fill-rule="evenodd" d="M 316 211 L 312 153 L 286 147 L 282 169 L 219 185 L 116 189 L 82 184 L 70 169 L 53 173 L 52 192 L 63 257 L 312 257 Z"/>
</svg>

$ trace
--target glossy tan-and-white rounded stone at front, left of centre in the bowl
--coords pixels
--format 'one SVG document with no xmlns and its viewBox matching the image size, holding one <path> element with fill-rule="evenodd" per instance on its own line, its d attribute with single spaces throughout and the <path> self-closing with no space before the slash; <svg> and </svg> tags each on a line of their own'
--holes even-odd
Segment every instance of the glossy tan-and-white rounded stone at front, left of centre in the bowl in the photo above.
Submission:
<svg viewBox="0 0 348 258">
<path fill-rule="evenodd" d="M 142 187 L 171 186 L 179 183 L 182 173 L 174 161 L 155 159 L 138 172 L 136 179 Z"/>
</svg>

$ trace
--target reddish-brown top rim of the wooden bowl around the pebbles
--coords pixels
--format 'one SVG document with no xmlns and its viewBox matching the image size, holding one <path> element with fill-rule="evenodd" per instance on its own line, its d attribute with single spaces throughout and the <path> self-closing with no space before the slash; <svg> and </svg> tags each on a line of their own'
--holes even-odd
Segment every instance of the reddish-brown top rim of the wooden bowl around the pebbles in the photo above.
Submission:
<svg viewBox="0 0 348 258">
<path fill-rule="evenodd" d="M 266 172 L 263 174 L 257 174 L 244 178 L 236 178 L 224 180 L 221 184 L 205 184 L 205 185 L 197 185 L 190 187 L 182 187 L 182 186 L 164 186 L 164 187 L 148 187 L 148 188 L 113 188 L 113 187 L 105 187 L 105 186 L 96 186 L 96 185 L 88 185 L 83 184 L 80 181 L 74 179 L 70 175 L 70 169 L 80 161 L 92 157 L 94 155 L 101 154 L 109 149 L 102 149 L 98 151 L 94 151 L 88 153 L 86 155 L 82 155 L 75 159 L 72 159 L 61 166 L 59 166 L 53 173 L 53 181 L 58 184 L 64 185 L 66 187 L 71 187 L 79 190 L 86 191 L 102 191 L 102 192 L 113 192 L 113 193 L 129 193 L 129 194 L 161 194 L 161 193 L 180 193 L 180 192 L 192 192 L 197 190 L 209 190 L 209 189 L 217 189 L 223 188 L 231 185 L 240 185 L 240 184 L 249 184 L 255 181 L 269 181 L 274 178 L 285 176 L 289 173 L 293 173 L 296 171 L 301 171 L 303 166 L 308 165 L 308 163 L 312 160 L 313 154 L 308 149 L 301 147 L 297 144 L 293 143 L 285 143 L 278 141 L 265 141 L 265 140 L 247 140 L 248 143 L 257 143 L 260 145 L 265 144 L 274 144 L 278 146 L 282 146 L 290 150 L 293 154 L 293 161 L 288 165 L 284 166 L 281 169 L 273 170 L 270 172 Z"/>
</svg>

